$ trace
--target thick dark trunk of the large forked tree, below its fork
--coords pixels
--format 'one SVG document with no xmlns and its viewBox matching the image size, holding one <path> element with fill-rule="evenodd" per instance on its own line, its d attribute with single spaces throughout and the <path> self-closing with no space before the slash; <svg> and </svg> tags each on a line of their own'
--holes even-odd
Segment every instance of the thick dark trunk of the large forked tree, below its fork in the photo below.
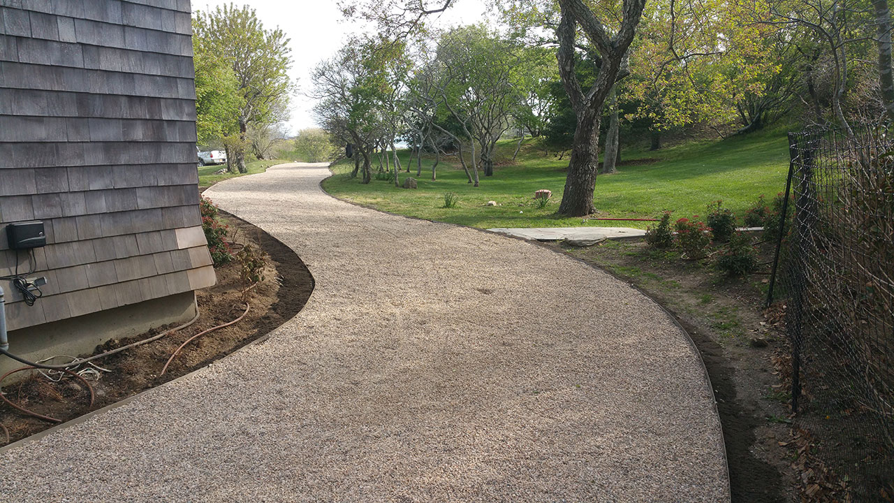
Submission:
<svg viewBox="0 0 894 503">
<path fill-rule="evenodd" d="M 599 166 L 599 112 L 587 108 L 578 116 L 574 132 L 574 147 L 565 179 L 559 213 L 569 217 L 584 217 L 593 213 L 593 192 Z"/>
</svg>

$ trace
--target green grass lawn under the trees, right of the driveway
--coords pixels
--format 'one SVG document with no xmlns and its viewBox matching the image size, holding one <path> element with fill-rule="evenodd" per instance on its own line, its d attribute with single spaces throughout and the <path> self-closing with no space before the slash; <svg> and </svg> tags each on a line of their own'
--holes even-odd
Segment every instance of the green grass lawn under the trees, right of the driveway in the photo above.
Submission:
<svg viewBox="0 0 894 503">
<path fill-rule="evenodd" d="M 675 217 L 704 217 L 705 206 L 719 199 L 740 216 L 759 195 L 766 194 L 769 198 L 785 189 L 789 163 L 786 143 L 784 130 L 777 129 L 724 141 L 692 142 L 654 152 L 628 149 L 622 152 L 625 163 L 619 166 L 619 173 L 600 175 L 596 179 L 598 216 L 659 217 L 662 211 L 672 210 Z M 503 142 L 497 158 L 502 157 L 508 163 L 514 147 L 514 141 Z M 401 154 L 404 166 L 408 157 L 408 152 Z M 334 175 L 325 180 L 323 187 L 334 196 L 375 209 L 481 228 L 645 227 L 646 224 L 595 220 L 584 223 L 579 217 L 556 215 L 568 158 L 546 157 L 542 150 L 530 145 L 522 149 L 515 164 L 496 167 L 493 177 L 482 175 L 480 187 L 467 183 L 455 158 L 451 159 L 453 164 L 442 162 L 438 166 L 437 181 L 433 182 L 432 163 L 431 159 L 423 158 L 422 176 L 415 191 L 396 188 L 392 182 L 375 180 L 375 177 L 367 185 L 351 179 L 353 161 L 333 166 Z M 415 177 L 415 161 L 411 169 Z M 401 174 L 401 182 L 407 175 Z M 533 200 L 534 192 L 539 189 L 552 191 L 553 200 L 544 209 L 538 208 Z M 456 192 L 459 205 L 443 208 L 444 192 Z M 500 206 L 485 206 L 488 200 L 495 200 Z"/>
</svg>

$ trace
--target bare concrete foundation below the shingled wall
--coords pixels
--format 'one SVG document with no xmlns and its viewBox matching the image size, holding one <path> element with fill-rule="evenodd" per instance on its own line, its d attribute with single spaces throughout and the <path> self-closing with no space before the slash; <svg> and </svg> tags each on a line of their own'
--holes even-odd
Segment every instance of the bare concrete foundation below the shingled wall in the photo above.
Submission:
<svg viewBox="0 0 894 503">
<path fill-rule="evenodd" d="M 109 340 L 139 336 L 152 328 L 191 320 L 196 315 L 195 300 L 194 293 L 186 292 L 38 327 L 21 328 L 9 333 L 9 351 L 32 362 L 56 354 L 92 354 L 97 345 Z M 102 366 L 102 361 L 97 364 Z M 0 374 L 21 366 L 20 362 L 0 355 Z"/>
</svg>

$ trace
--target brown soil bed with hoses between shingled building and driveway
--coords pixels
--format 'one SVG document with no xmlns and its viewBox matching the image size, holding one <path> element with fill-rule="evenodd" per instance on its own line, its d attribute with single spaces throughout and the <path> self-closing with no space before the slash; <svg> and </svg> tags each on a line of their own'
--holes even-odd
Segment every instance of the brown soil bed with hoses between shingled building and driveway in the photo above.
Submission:
<svg viewBox="0 0 894 503">
<path fill-rule="evenodd" d="M 192 325 L 147 345 L 139 345 L 93 362 L 96 363 L 94 368 L 97 371 L 84 375 L 94 391 L 92 406 L 89 405 L 89 392 L 79 380 L 62 379 L 54 382 L 37 370 L 22 372 L 29 374 L 25 379 L 10 379 L 10 382 L 4 383 L 5 396 L 13 403 L 36 413 L 54 417 L 61 422 L 70 421 L 207 366 L 291 320 L 304 307 L 313 291 L 314 280 L 308 268 L 295 252 L 270 234 L 238 217 L 224 214 L 223 211 L 221 214 L 224 223 L 230 226 L 229 239 L 233 250 L 238 251 L 240 247 L 250 244 L 263 253 L 266 261 L 261 281 L 248 291 L 250 309 L 242 320 L 207 336 L 198 337 L 186 345 L 173 359 L 164 375 L 160 375 L 165 362 L 187 339 L 208 328 L 235 320 L 245 311 L 245 303 L 242 302 L 244 286 L 240 278 L 241 265 L 238 260 L 233 260 L 215 268 L 216 286 L 197 292 L 199 316 Z M 97 347 L 97 354 L 170 328 L 174 326 L 158 328 L 138 337 L 108 341 Z M 53 363 L 57 362 L 62 363 L 65 360 Z M 78 370 L 83 368 L 81 366 Z M 58 374 L 53 376 L 51 372 L 51 377 L 57 379 Z M 9 431 L 9 441 L 16 441 L 57 423 L 25 415 L 2 404 L 0 424 Z M 4 431 L 0 429 L 0 446 L 4 445 L 5 440 Z"/>
</svg>

